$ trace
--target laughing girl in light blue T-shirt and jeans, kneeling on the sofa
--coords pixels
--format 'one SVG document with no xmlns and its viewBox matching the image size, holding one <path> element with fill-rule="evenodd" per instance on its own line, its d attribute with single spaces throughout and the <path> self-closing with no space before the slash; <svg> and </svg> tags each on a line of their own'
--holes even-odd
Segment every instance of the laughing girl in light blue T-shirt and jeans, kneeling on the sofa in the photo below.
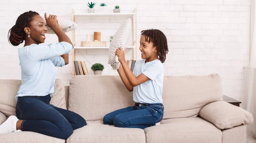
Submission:
<svg viewBox="0 0 256 143">
<path fill-rule="evenodd" d="M 166 36 L 157 29 L 141 31 L 142 60 L 135 63 L 133 73 L 125 60 L 122 48 L 116 50 L 121 66 L 117 70 L 125 87 L 133 93 L 134 107 L 111 112 L 104 124 L 117 127 L 145 129 L 163 119 L 163 62 L 168 53 Z"/>
</svg>

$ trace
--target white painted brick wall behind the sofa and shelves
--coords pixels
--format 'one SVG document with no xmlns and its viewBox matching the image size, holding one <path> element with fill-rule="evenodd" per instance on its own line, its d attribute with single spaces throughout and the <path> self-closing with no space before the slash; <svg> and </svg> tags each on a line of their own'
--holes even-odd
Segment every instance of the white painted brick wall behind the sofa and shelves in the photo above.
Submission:
<svg viewBox="0 0 256 143">
<path fill-rule="evenodd" d="M 100 1 L 93 1 L 97 2 L 98 12 Z M 122 12 L 131 12 L 137 6 L 138 40 L 143 29 L 157 28 L 166 34 L 169 53 L 164 63 L 165 75 L 219 73 L 224 94 L 242 101 L 242 69 L 249 64 L 250 54 L 250 0 L 105 0 L 105 3 L 108 12 L 117 4 Z M 7 32 L 20 14 L 33 10 L 43 15 L 46 11 L 71 19 L 72 8 L 86 12 L 87 1 L 0 0 L 0 79 L 20 79 L 17 47 L 10 46 L 7 40 Z M 108 40 L 124 20 L 76 18 L 79 25 L 76 45 L 86 39 L 86 34 L 93 39 L 94 31 L 101 31 L 102 40 Z M 68 35 L 71 37 L 71 33 Z M 57 41 L 55 35 L 47 35 L 46 43 Z M 132 50 L 126 52 L 126 59 L 131 59 Z M 86 61 L 90 74 L 93 74 L 90 66 L 96 62 L 104 64 L 103 74 L 117 74 L 107 64 L 108 50 L 80 49 L 76 53 L 77 60 Z M 57 78 L 66 85 L 72 76 L 71 60 L 72 53 L 70 64 L 57 68 Z"/>
</svg>

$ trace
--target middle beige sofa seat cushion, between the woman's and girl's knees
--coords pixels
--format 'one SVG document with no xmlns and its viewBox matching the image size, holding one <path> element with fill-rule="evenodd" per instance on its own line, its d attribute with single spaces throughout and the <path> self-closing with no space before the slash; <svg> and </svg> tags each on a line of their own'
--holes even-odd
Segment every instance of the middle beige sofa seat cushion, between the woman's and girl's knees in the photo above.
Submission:
<svg viewBox="0 0 256 143">
<path fill-rule="evenodd" d="M 87 126 L 74 130 L 67 143 L 146 143 L 143 129 L 103 125 L 88 121 Z"/>
</svg>

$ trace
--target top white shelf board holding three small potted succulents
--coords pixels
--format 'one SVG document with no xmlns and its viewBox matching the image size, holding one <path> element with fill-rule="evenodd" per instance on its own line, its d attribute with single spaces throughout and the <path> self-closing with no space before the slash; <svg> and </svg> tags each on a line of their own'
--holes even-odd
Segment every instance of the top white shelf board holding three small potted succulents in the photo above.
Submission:
<svg viewBox="0 0 256 143">
<path fill-rule="evenodd" d="M 73 13 L 79 17 L 133 17 L 136 13 Z"/>
</svg>

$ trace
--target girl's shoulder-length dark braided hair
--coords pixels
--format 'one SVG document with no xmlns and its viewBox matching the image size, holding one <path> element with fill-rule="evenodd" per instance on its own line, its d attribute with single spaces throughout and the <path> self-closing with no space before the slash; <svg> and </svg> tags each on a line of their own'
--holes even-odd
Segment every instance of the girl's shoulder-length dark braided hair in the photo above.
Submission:
<svg viewBox="0 0 256 143">
<path fill-rule="evenodd" d="M 167 45 L 167 38 L 162 31 L 158 29 L 148 29 L 141 31 L 141 36 L 145 35 L 147 42 L 152 42 L 157 47 L 159 60 L 164 63 L 166 54 L 169 52 Z"/>
</svg>

